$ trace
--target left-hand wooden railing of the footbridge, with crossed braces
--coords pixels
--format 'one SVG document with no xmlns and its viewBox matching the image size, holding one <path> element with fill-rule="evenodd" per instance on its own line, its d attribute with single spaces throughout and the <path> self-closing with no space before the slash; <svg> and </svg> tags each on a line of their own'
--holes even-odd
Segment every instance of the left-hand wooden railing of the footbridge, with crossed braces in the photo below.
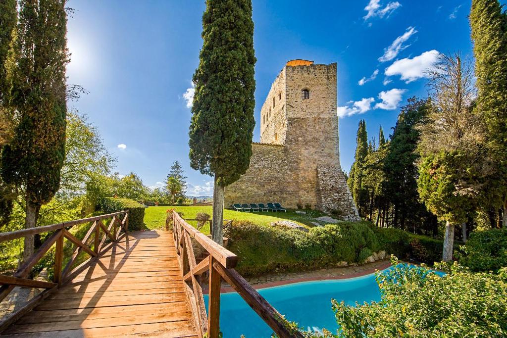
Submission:
<svg viewBox="0 0 507 338">
<path fill-rule="evenodd" d="M 123 219 L 120 218 L 120 215 L 122 214 L 125 214 Z M 109 226 L 106 227 L 102 223 L 102 220 L 111 217 L 112 220 Z M 76 224 L 87 222 L 93 222 L 93 224 L 83 240 L 79 240 L 68 231 Z M 0 324 L 0 332 L 2 332 L 4 328 L 16 321 L 18 318 L 20 318 L 24 313 L 31 310 L 35 305 L 39 304 L 39 302 L 45 299 L 53 291 L 55 291 L 59 285 L 79 274 L 82 268 L 88 264 L 89 259 L 100 257 L 103 252 L 107 251 L 111 247 L 113 242 L 117 242 L 123 238 L 125 234 L 128 235 L 128 211 L 120 211 L 96 217 L 71 220 L 68 222 L 52 224 L 45 227 L 0 233 L 0 243 L 47 232 L 53 232 L 53 234 L 44 241 L 41 247 L 33 255 L 31 255 L 29 259 L 23 262 L 20 268 L 12 276 L 0 275 L 0 284 L 2 285 L 0 286 L 0 302 L 2 302 L 16 286 L 45 289 L 37 296 L 31 298 L 30 301 L 28 301 L 24 306 L 20 307 L 19 310 L 12 313 L 7 320 L 2 322 Z M 102 238 L 101 233 L 103 234 Z M 64 238 L 75 244 L 76 249 L 62 270 L 64 259 Z M 93 239 L 93 242 L 88 244 L 91 239 Z M 110 239 L 111 243 L 104 245 L 107 239 Z M 28 277 L 30 275 L 31 269 L 38 264 L 38 262 L 44 257 L 46 252 L 48 252 L 48 250 L 53 245 L 56 245 L 53 280 L 40 281 L 29 279 Z M 91 257 L 73 269 L 76 259 L 82 252 L 88 253 Z"/>
</svg>

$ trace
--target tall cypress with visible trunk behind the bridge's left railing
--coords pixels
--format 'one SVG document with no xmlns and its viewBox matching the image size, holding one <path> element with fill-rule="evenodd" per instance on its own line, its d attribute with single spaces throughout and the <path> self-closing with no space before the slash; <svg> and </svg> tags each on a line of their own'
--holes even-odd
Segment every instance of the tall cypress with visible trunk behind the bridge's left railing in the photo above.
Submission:
<svg viewBox="0 0 507 338">
<path fill-rule="evenodd" d="M 19 121 L 12 141 L 3 149 L 2 177 L 24 191 L 25 228 L 35 227 L 41 206 L 58 190 L 65 156 L 65 3 L 19 2 L 19 58 L 13 91 Z M 32 253 L 33 236 L 28 236 L 24 259 Z"/>
</svg>

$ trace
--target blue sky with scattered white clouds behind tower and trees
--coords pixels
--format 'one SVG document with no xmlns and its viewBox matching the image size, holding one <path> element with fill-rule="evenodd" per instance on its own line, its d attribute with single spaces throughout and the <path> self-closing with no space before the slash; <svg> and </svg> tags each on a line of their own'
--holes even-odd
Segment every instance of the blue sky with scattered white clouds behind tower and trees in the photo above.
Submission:
<svg viewBox="0 0 507 338">
<path fill-rule="evenodd" d="M 505 1 L 502 1 L 505 3 Z M 89 93 L 69 108 L 88 116 L 117 158 L 115 171 L 162 186 L 174 161 L 188 195 L 212 195 L 212 177 L 190 168 L 192 74 L 202 46 L 203 0 L 70 0 L 68 84 Z M 472 55 L 470 1 L 252 0 L 256 128 L 286 61 L 338 63 L 340 163 L 348 171 L 360 119 L 369 138 L 390 134 L 400 106 L 427 97 L 425 69 L 439 53 Z"/>
</svg>

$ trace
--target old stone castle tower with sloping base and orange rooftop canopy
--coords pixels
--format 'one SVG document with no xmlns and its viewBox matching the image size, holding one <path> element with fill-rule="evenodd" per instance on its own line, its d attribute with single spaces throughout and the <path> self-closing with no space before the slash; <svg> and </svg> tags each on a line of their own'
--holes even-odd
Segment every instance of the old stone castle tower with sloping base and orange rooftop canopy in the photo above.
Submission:
<svg viewBox="0 0 507 338">
<path fill-rule="evenodd" d="M 250 166 L 225 189 L 225 205 L 279 202 L 359 220 L 340 167 L 336 63 L 292 60 L 261 109 L 261 142 Z"/>
</svg>

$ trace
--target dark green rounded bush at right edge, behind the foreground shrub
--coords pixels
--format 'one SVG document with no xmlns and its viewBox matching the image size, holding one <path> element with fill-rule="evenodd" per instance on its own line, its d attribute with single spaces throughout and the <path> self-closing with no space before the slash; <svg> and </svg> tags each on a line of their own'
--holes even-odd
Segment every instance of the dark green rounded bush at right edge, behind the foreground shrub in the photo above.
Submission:
<svg viewBox="0 0 507 338">
<path fill-rule="evenodd" d="M 470 239 L 457 252 L 459 264 L 472 271 L 498 271 L 507 267 L 507 228 L 470 234 Z"/>
</svg>

